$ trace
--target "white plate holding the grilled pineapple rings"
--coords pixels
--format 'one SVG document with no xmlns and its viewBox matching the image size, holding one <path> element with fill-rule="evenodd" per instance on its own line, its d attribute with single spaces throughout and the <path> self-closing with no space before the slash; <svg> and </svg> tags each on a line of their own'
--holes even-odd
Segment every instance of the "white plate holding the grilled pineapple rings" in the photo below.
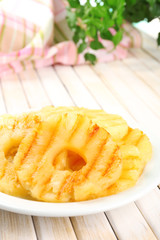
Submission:
<svg viewBox="0 0 160 240">
<path fill-rule="evenodd" d="M 142 129 L 141 127 L 139 128 Z M 133 188 L 116 195 L 74 203 L 36 202 L 0 193 L 0 208 L 27 215 L 66 217 L 108 211 L 137 200 L 160 183 L 160 139 L 145 130 L 144 132 L 147 133 L 152 142 L 153 157 Z"/>
</svg>

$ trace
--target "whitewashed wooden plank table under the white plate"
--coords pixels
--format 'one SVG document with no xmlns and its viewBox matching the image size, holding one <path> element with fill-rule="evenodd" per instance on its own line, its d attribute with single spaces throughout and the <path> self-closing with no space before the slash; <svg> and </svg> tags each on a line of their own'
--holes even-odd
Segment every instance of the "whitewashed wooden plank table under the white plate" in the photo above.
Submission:
<svg viewBox="0 0 160 240">
<path fill-rule="evenodd" d="M 45 105 L 77 105 L 120 113 L 160 133 L 160 50 L 144 35 L 142 49 L 124 61 L 94 67 L 48 67 L 3 77 L 0 113 Z M 45 218 L 0 211 L 1 240 L 160 239 L 160 190 L 124 207 L 72 218 Z"/>
</svg>

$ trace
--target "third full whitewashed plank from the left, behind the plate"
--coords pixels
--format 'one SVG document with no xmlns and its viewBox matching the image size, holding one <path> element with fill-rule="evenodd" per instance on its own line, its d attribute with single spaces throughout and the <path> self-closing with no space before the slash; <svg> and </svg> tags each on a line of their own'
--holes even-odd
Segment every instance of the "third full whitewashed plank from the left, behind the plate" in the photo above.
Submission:
<svg viewBox="0 0 160 240">
<path fill-rule="evenodd" d="M 66 92 L 52 67 L 39 69 L 38 75 L 53 105 L 62 106 L 64 102 L 65 106 L 73 105 L 71 97 Z"/>
</svg>

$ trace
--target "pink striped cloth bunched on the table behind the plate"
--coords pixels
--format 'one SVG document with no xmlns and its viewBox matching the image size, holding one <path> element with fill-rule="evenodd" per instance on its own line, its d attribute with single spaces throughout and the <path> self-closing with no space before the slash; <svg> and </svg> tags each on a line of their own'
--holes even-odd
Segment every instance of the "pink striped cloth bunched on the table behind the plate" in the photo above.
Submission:
<svg viewBox="0 0 160 240">
<path fill-rule="evenodd" d="M 77 54 L 71 40 L 66 4 L 63 0 L 0 1 L 0 76 L 56 63 L 84 63 L 84 54 Z M 105 40 L 105 49 L 87 51 L 95 53 L 99 62 L 125 58 L 128 48 L 141 45 L 141 37 L 129 24 L 123 28 L 124 36 L 116 49 Z"/>
</svg>

